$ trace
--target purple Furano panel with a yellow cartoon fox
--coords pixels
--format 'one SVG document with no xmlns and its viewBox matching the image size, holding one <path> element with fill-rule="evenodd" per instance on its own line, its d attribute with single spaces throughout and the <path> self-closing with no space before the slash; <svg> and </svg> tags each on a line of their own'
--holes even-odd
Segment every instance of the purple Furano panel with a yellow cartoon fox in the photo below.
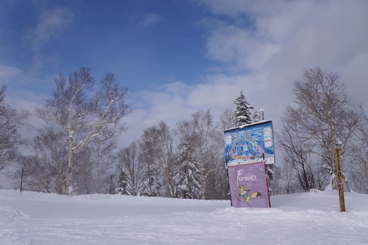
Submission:
<svg viewBox="0 0 368 245">
<path fill-rule="evenodd" d="M 269 208 L 264 162 L 228 167 L 233 207 Z"/>
</svg>

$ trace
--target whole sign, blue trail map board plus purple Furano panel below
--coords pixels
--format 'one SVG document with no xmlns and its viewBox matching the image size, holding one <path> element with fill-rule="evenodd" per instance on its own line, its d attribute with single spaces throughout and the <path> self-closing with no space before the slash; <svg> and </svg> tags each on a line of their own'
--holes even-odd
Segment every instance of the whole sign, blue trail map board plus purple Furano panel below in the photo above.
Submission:
<svg viewBox="0 0 368 245">
<path fill-rule="evenodd" d="M 270 207 L 266 164 L 274 164 L 272 121 L 225 130 L 231 205 Z"/>
</svg>

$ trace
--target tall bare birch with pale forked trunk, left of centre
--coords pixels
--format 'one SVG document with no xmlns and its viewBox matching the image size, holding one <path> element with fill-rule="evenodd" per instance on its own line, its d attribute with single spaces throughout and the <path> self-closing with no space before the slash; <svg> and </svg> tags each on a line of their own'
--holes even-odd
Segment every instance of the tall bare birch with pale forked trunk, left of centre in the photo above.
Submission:
<svg viewBox="0 0 368 245">
<path fill-rule="evenodd" d="M 100 89 L 95 87 L 91 69 L 82 67 L 65 77 L 55 79 L 53 97 L 46 100 L 36 114 L 48 125 L 58 127 L 68 141 L 68 174 L 64 181 L 64 195 L 73 190 L 73 162 L 75 154 L 93 138 L 101 143 L 116 137 L 127 127 L 121 119 L 131 112 L 125 102 L 127 88 L 120 88 L 115 75 L 106 72 Z M 90 95 L 90 96 L 89 96 Z"/>
</svg>

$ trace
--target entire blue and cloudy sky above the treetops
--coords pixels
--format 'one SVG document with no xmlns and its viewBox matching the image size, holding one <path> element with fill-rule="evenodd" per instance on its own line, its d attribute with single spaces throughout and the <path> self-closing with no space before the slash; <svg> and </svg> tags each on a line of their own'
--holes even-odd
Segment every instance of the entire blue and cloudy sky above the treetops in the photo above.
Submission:
<svg viewBox="0 0 368 245">
<path fill-rule="evenodd" d="M 217 118 L 240 90 L 277 129 L 293 82 L 316 66 L 337 72 L 367 112 L 367 13 L 365 0 L 0 0 L 0 84 L 33 112 L 59 73 L 114 72 L 134 110 L 121 145 L 160 120 L 207 108 Z"/>
</svg>

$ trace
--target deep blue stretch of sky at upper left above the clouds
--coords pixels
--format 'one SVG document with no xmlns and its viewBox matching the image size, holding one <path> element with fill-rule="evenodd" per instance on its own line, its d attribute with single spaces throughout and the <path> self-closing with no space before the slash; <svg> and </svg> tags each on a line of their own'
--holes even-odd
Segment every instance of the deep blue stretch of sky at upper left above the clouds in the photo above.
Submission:
<svg viewBox="0 0 368 245">
<path fill-rule="evenodd" d="M 207 15 L 197 3 L 9 1 L 2 6 L 2 62 L 41 78 L 88 66 L 97 77 L 115 72 L 137 91 L 176 79 L 199 83 L 213 65 L 198 23 Z"/>
</svg>

